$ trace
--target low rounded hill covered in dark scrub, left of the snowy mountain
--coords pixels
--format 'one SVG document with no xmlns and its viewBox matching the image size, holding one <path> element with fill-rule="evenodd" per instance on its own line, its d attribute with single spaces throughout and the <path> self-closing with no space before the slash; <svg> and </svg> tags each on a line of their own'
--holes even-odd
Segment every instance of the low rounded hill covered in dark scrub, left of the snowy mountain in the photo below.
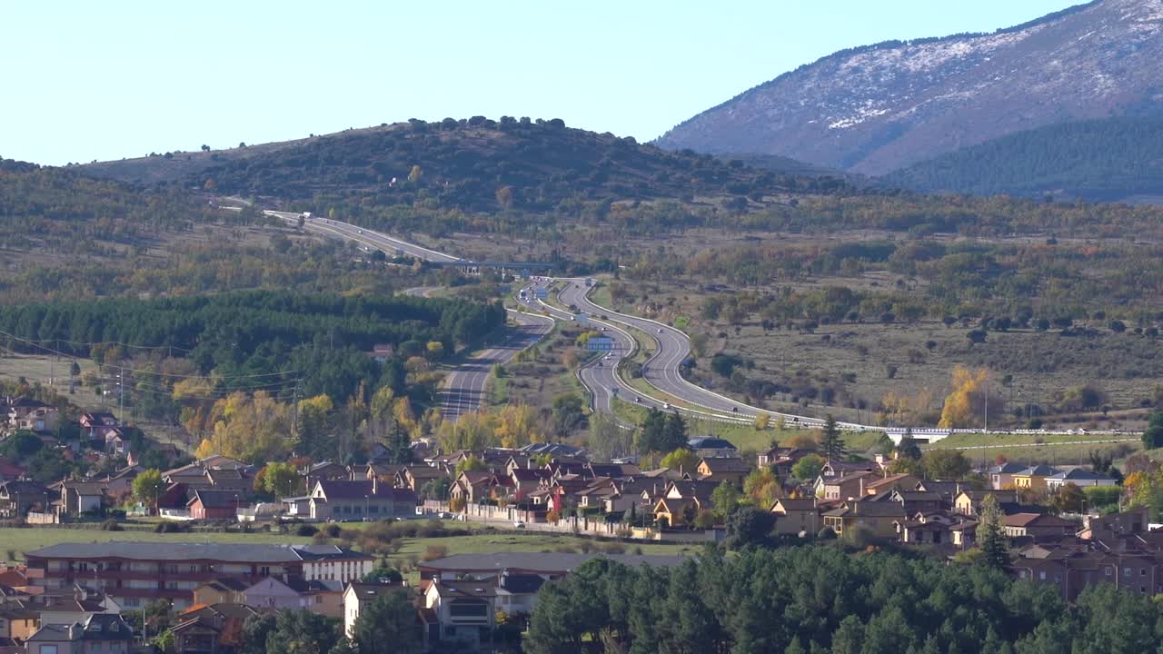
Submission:
<svg viewBox="0 0 1163 654">
<path fill-rule="evenodd" d="M 178 152 L 78 166 L 134 184 L 205 187 L 220 194 L 311 200 L 366 199 L 377 206 L 549 211 L 565 200 L 736 198 L 763 201 L 794 187 L 794 175 L 672 152 L 634 138 L 565 127 L 561 120 L 502 118 L 352 129 L 286 143 Z M 801 168 L 801 166 L 800 166 Z"/>
</svg>

